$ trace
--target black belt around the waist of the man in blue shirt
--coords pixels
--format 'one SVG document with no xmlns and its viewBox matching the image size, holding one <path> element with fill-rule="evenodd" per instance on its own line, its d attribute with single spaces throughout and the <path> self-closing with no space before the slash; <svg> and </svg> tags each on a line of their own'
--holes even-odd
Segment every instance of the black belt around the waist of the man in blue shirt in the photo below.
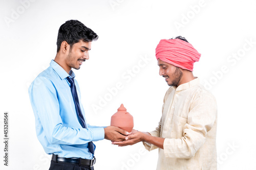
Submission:
<svg viewBox="0 0 256 170">
<path fill-rule="evenodd" d="M 77 165 L 87 165 L 92 167 L 95 162 L 96 162 L 96 158 L 93 157 L 93 159 L 82 159 L 82 158 L 63 158 L 63 157 L 59 157 L 58 155 L 54 155 L 52 154 L 52 160 L 54 162 L 67 162 L 67 163 L 73 163 L 73 164 L 77 164 Z"/>
</svg>

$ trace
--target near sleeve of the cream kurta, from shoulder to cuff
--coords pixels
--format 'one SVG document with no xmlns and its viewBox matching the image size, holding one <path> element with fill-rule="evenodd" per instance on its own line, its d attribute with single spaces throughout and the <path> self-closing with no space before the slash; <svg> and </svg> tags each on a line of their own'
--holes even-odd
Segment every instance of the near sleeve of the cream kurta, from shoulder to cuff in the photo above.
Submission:
<svg viewBox="0 0 256 170">
<path fill-rule="evenodd" d="M 191 158 L 202 147 L 207 133 L 217 119 L 217 104 L 214 96 L 201 90 L 191 102 L 187 123 L 181 139 L 165 138 L 165 157 Z"/>
</svg>

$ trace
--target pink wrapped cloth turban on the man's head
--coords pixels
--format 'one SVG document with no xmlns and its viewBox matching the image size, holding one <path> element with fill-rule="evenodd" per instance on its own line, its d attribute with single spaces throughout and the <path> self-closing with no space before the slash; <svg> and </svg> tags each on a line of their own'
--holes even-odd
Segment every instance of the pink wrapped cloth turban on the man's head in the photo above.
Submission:
<svg viewBox="0 0 256 170">
<path fill-rule="evenodd" d="M 201 54 L 188 42 L 180 39 L 162 39 L 156 48 L 156 58 L 176 67 L 193 71 Z"/>
</svg>

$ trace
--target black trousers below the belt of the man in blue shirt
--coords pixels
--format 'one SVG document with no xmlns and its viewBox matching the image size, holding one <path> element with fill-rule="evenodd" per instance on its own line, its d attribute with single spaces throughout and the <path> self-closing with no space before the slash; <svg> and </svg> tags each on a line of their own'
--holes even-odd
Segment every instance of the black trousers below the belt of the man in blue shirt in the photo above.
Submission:
<svg viewBox="0 0 256 170">
<path fill-rule="evenodd" d="M 51 160 L 49 170 L 94 170 L 94 168 L 86 165 L 79 166 L 68 162 L 54 162 Z"/>
</svg>

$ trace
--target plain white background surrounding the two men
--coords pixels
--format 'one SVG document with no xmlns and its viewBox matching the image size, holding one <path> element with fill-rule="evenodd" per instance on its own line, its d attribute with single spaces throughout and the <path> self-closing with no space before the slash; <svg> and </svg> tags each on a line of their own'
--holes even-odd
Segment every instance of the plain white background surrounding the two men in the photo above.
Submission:
<svg viewBox="0 0 256 170">
<path fill-rule="evenodd" d="M 110 125 L 123 103 L 135 129 L 154 130 L 168 89 L 158 75 L 155 48 L 160 39 L 182 35 L 202 54 L 194 76 L 218 102 L 218 169 L 255 168 L 256 1 L 1 0 L 0 12 L 0 136 L 6 111 L 10 136 L 8 167 L 0 142 L 0 169 L 49 168 L 51 156 L 36 138 L 28 86 L 54 59 L 58 29 L 69 19 L 99 35 L 90 59 L 75 70 L 91 125 Z M 133 77 L 122 77 L 129 70 Z M 107 88 L 118 82 L 122 89 L 110 95 Z M 156 168 L 157 150 L 147 152 L 142 143 L 124 148 L 108 140 L 95 143 L 95 169 Z"/>
</svg>

